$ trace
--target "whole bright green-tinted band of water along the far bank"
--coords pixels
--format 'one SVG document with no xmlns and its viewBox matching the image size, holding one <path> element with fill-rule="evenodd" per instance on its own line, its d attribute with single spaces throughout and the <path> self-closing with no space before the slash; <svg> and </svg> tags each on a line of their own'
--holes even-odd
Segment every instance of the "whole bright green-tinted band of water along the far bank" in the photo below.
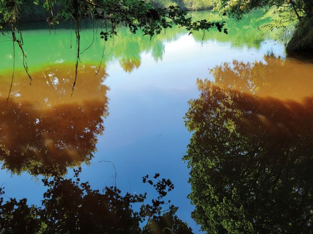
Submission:
<svg viewBox="0 0 313 234">
<path fill-rule="evenodd" d="M 268 23 L 270 18 L 261 18 L 262 11 L 255 12 L 244 17 L 239 22 L 221 17 L 207 11 L 190 13 L 194 20 L 208 18 L 211 21 L 226 21 L 228 35 L 219 33 L 216 29 L 211 29 L 203 35 L 202 32 L 194 32 L 190 37 L 195 41 L 205 44 L 208 40 L 217 40 L 219 42 L 230 42 L 233 48 L 256 48 L 259 49 L 261 42 L 266 38 L 275 36 L 274 33 L 258 31 L 258 27 Z M 81 52 L 92 46 L 81 54 L 82 63 L 94 63 L 99 65 L 102 52 L 105 50 L 103 62 L 106 64 L 112 60 L 119 60 L 122 67 L 126 61 L 133 61 L 138 66 L 142 53 L 151 53 L 155 61 L 161 60 L 164 54 L 165 42 L 177 40 L 181 35 L 186 34 L 186 30 L 173 27 L 160 35 L 151 38 L 143 36 L 141 32 L 132 34 L 127 28 L 120 28 L 119 35 L 105 43 L 100 38 L 100 23 L 85 22 L 81 33 Z M 70 24 L 58 26 L 56 30 L 47 30 L 45 24 L 28 24 L 23 31 L 24 49 L 27 55 L 27 63 L 30 71 L 36 71 L 45 66 L 54 64 L 74 62 L 76 38 L 74 30 L 71 30 Z M 39 28 L 39 29 L 38 29 Z M 42 29 L 45 28 L 45 29 Z M 67 28 L 67 29 L 65 29 Z M 265 34 L 264 34 L 265 33 Z M 94 37 L 93 37 L 94 35 Z M 9 38 L 3 37 L 7 40 Z M 94 39 L 94 40 L 93 40 Z M 92 43 L 93 41 L 93 43 Z M 0 70 L 2 73 L 10 72 L 13 64 L 13 47 L 11 41 L 0 44 L 1 59 Z M 16 50 L 16 68 L 22 69 L 22 52 Z"/>
</svg>

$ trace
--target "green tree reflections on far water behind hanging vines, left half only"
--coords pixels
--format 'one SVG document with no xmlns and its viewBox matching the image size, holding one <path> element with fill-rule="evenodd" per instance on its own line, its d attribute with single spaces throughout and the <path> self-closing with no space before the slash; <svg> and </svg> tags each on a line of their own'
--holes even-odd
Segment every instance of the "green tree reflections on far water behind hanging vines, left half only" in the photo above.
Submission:
<svg viewBox="0 0 313 234">
<path fill-rule="evenodd" d="M 96 25 L 96 24 L 95 24 Z M 61 26 L 61 28 L 67 25 Z M 70 29 L 70 25 L 69 29 Z M 58 26 L 56 26 L 58 27 Z M 91 28 L 82 28 L 81 31 L 81 47 L 88 48 L 92 41 L 93 26 L 89 25 Z M 36 29 L 38 25 L 36 24 Z M 101 28 L 95 29 L 101 31 Z M 74 62 L 73 51 L 70 48 L 71 36 L 70 30 L 60 30 L 58 33 L 51 37 L 49 30 L 42 30 L 40 32 L 40 40 L 34 38 L 31 30 L 25 30 L 23 33 L 23 38 L 29 38 L 27 44 L 27 56 L 28 63 L 32 65 L 31 73 L 37 68 L 46 66 L 47 64 L 62 62 L 63 60 L 67 62 Z M 102 52 L 105 49 L 103 62 L 108 63 L 110 61 L 121 60 L 121 59 L 133 59 L 140 60 L 140 56 L 143 53 L 150 53 L 154 60 L 162 60 L 164 54 L 165 43 L 172 40 L 177 40 L 180 35 L 185 34 L 186 30 L 179 27 L 173 27 L 171 30 L 166 31 L 166 33 L 161 33 L 150 37 L 143 36 L 142 31 L 138 33 L 131 33 L 128 28 L 119 28 L 119 35 L 114 38 L 110 38 L 107 43 L 103 40 L 97 40 L 97 33 L 95 34 L 95 40 L 92 46 L 81 54 L 81 60 L 84 62 L 92 63 L 99 66 Z M 44 39 L 43 39 L 44 38 Z M 3 46 L 4 45 L 4 46 Z M 55 46 L 57 45 L 57 46 Z M 38 48 L 41 48 L 38 50 Z M 61 48 L 61 49 L 60 49 Z M 0 44 L 0 70 L 11 72 L 12 71 L 12 60 L 9 59 L 12 55 L 11 47 L 5 45 L 5 43 Z M 42 54 L 48 54 L 49 56 L 41 56 Z M 136 64 L 139 64 L 138 62 Z M 73 66 L 73 63 L 69 65 Z M 16 70 L 23 70 L 22 54 L 20 51 L 16 51 Z M 19 67 L 18 67 L 19 66 Z M 21 67 L 22 66 L 22 67 Z M 72 68 L 70 67 L 72 70 Z M 3 72 L 2 72 L 3 73 Z M 1 76 L 1 74 L 0 74 Z"/>
</svg>

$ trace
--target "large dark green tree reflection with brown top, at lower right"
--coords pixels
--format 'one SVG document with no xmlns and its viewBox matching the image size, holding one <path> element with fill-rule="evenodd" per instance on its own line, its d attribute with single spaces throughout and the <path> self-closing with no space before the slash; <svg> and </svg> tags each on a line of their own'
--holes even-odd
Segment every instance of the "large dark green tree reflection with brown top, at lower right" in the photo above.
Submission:
<svg viewBox="0 0 313 234">
<path fill-rule="evenodd" d="M 192 217 L 209 233 L 310 233 L 313 99 L 199 88 L 186 114 Z"/>
</svg>

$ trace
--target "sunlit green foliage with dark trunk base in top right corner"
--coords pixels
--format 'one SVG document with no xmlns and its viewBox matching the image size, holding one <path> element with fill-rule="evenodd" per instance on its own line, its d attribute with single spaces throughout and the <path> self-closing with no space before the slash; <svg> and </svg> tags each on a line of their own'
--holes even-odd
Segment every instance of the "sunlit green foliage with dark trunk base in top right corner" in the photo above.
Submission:
<svg viewBox="0 0 313 234">
<path fill-rule="evenodd" d="M 277 19 L 266 25 L 269 30 L 274 28 L 290 30 L 289 25 L 296 26 L 294 37 L 287 46 L 288 51 L 313 49 L 312 24 L 307 26 L 313 17 L 313 1 L 311 0 L 216 0 L 214 6 L 219 12 L 227 13 L 239 19 L 253 9 L 266 8 L 272 14 L 278 15 Z"/>
</svg>

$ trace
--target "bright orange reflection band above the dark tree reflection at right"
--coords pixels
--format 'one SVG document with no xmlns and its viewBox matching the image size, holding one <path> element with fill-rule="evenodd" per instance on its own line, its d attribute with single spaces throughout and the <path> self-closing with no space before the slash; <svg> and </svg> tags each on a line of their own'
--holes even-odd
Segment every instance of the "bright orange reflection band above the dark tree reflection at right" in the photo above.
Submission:
<svg viewBox="0 0 313 234">
<path fill-rule="evenodd" d="M 264 56 L 253 63 L 233 60 L 210 70 L 215 82 L 222 87 L 280 99 L 301 100 L 311 96 L 313 66 L 294 59 Z"/>
</svg>

